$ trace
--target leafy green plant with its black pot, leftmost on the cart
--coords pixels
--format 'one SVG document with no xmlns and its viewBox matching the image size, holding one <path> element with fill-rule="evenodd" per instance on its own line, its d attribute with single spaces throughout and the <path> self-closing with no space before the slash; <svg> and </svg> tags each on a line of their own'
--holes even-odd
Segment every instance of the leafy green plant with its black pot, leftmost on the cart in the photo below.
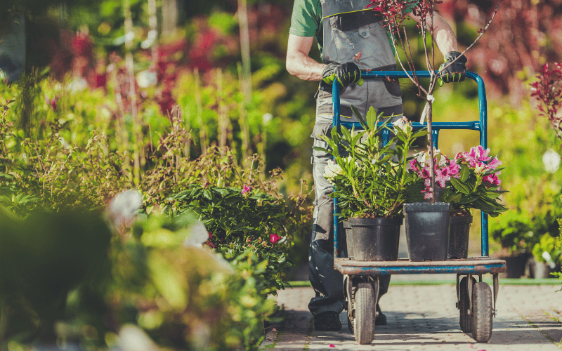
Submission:
<svg viewBox="0 0 562 351">
<path fill-rule="evenodd" d="M 325 168 L 325 178 L 334 185 L 332 197 L 338 198 L 338 216 L 348 220 L 353 237 L 355 260 L 397 260 L 403 204 L 408 200 L 412 183 L 419 177 L 407 172 L 408 151 L 414 140 L 426 131 L 414 132 L 405 117 L 380 123 L 371 107 L 366 121 L 355 107 L 362 131 L 341 127 L 330 135 L 319 135 L 329 149 L 315 147 L 334 157 Z M 393 137 L 383 145 L 382 132 Z M 348 229 L 349 231 L 349 229 Z M 348 241 L 349 242 L 349 241 Z"/>
</svg>

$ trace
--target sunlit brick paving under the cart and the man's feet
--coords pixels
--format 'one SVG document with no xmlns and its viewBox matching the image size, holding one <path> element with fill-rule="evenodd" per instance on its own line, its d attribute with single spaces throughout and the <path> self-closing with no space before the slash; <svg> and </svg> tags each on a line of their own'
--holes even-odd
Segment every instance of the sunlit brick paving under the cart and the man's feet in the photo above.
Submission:
<svg viewBox="0 0 562 351">
<path fill-rule="evenodd" d="M 270 350 L 560 350 L 562 292 L 560 285 L 499 286 L 492 338 L 476 343 L 459 329 L 455 285 L 391 286 L 381 298 L 388 325 L 377 326 L 371 345 L 358 345 L 347 329 L 315 331 L 308 300 L 311 287 L 279 291 L 285 322 L 270 331 L 261 349 Z M 330 346 L 333 345 L 333 347 Z"/>
</svg>

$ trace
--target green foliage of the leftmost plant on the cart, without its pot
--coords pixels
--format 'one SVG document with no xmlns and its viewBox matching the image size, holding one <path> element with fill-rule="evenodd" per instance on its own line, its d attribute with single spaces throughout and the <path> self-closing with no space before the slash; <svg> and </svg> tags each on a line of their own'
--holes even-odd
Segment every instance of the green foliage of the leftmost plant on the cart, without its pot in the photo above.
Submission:
<svg viewBox="0 0 562 351">
<path fill-rule="evenodd" d="M 320 135 L 329 150 L 315 147 L 334 156 L 324 173 L 334 185 L 332 196 L 338 197 L 344 218 L 400 216 L 407 190 L 417 181 L 416 175 L 406 171 L 407 152 L 426 131 L 414 133 L 405 117 L 396 121 L 393 128 L 388 127 L 388 122 L 379 126 L 381 115 L 377 117 L 373 107 L 367 112 L 367 123 L 357 110 L 355 115 L 365 131 L 349 131 L 342 126 L 339 135 L 332 129 L 331 137 Z M 381 146 L 380 135 L 384 130 L 394 133 L 394 137 Z"/>
</svg>

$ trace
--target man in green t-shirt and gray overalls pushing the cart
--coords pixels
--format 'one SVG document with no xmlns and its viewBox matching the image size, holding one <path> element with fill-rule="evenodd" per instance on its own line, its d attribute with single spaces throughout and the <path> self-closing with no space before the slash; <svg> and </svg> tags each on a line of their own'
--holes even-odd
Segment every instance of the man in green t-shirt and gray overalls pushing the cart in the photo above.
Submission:
<svg viewBox="0 0 562 351">
<path fill-rule="evenodd" d="M 395 70 L 396 55 L 380 14 L 367 8 L 370 0 L 295 0 L 287 46 L 287 71 L 300 79 L 320 81 L 316 93 L 316 121 L 313 128 L 313 146 L 327 148 L 318 135 L 327 133 L 332 126 L 332 82 L 341 89 L 341 120 L 358 121 L 350 105 L 365 117 L 370 106 L 383 117 L 402 117 L 402 94 L 396 81 L 383 79 L 360 80 L 361 70 Z M 421 18 L 409 13 L 413 20 Z M 460 55 L 457 39 L 451 27 L 440 15 L 433 13 L 426 19 L 428 29 L 433 27 L 433 38 L 445 55 L 445 63 L 455 60 L 441 70 L 445 82 L 464 79 L 466 58 Z M 322 62 L 308 53 L 316 39 Z M 460 57 L 459 57 L 460 56 Z M 358 67 L 358 64 L 361 67 Z M 443 66 L 442 66 L 443 67 Z M 362 84 L 361 84 L 362 83 Z M 313 150 L 313 177 L 315 183 L 314 223 L 309 248 L 308 277 L 315 297 L 308 304 L 314 315 L 316 330 L 341 329 L 339 313 L 344 310 L 343 276 L 334 270 L 333 211 L 329 197 L 332 186 L 323 177 L 329 155 Z M 390 276 L 380 278 L 379 298 L 388 290 Z M 386 324 L 377 302 L 375 324 Z"/>
</svg>

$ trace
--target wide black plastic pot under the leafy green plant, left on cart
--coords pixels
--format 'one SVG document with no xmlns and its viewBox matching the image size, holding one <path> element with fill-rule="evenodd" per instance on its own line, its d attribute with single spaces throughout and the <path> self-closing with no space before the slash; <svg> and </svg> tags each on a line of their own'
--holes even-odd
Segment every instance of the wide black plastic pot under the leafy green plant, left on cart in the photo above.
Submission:
<svg viewBox="0 0 562 351">
<path fill-rule="evenodd" d="M 354 260 L 398 260 L 402 218 L 349 218 L 348 222 L 353 237 Z"/>
</svg>

